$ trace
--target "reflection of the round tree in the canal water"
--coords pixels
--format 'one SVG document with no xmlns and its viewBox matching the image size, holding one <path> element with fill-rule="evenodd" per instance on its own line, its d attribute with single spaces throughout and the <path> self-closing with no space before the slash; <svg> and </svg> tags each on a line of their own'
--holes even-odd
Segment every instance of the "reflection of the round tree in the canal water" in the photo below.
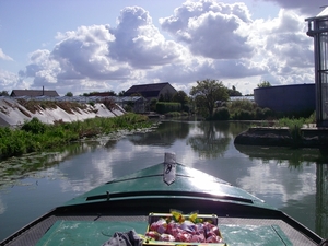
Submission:
<svg viewBox="0 0 328 246">
<path fill-rule="evenodd" d="M 187 140 L 195 152 L 207 159 L 223 156 L 231 141 L 229 122 L 200 122 L 199 132 Z"/>
</svg>

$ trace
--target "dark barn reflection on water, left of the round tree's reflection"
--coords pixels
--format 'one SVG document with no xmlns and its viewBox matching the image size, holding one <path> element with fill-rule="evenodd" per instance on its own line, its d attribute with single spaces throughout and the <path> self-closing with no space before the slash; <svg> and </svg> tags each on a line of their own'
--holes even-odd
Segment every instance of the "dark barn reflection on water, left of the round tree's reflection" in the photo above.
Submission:
<svg viewBox="0 0 328 246">
<path fill-rule="evenodd" d="M 189 125 L 185 121 L 163 121 L 157 129 L 148 133 L 136 133 L 128 139 L 139 145 L 172 145 L 176 139 L 186 139 Z"/>
</svg>

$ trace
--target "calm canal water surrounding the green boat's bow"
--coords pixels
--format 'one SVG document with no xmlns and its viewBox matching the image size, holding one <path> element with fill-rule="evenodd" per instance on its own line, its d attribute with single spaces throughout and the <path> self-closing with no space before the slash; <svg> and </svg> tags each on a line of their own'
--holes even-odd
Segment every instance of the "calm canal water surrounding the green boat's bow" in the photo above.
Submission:
<svg viewBox="0 0 328 246">
<path fill-rule="evenodd" d="M 328 237 L 328 162 L 318 149 L 235 145 L 246 122 L 163 121 L 152 131 L 0 163 L 0 241 L 112 178 L 177 162 L 238 186 Z M 206 211 L 203 211 L 206 213 Z"/>
</svg>

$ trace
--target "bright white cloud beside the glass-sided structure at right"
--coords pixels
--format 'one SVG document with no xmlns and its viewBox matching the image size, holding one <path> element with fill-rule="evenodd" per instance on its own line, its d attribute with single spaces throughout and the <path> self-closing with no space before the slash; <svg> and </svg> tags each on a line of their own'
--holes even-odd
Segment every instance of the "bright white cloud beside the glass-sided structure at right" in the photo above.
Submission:
<svg viewBox="0 0 328 246">
<path fill-rule="evenodd" d="M 281 10 L 267 22 L 255 22 L 250 43 L 257 45 L 258 59 L 268 68 L 268 75 L 281 84 L 314 82 L 313 39 L 306 36 L 304 17 L 293 11 Z M 301 78 L 300 74 L 303 74 Z"/>
</svg>

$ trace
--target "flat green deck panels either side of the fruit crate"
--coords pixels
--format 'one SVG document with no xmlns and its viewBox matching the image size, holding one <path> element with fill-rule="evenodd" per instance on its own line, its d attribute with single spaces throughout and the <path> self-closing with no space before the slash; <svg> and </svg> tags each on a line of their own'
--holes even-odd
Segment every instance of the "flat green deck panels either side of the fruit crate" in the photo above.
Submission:
<svg viewBox="0 0 328 246">
<path fill-rule="evenodd" d="M 138 234 L 144 234 L 147 226 L 147 222 L 57 221 L 37 243 L 37 246 L 103 245 L 115 232 L 128 232 L 134 230 Z M 286 235 L 277 225 L 245 226 L 219 224 L 219 227 L 224 243 L 227 245 L 292 245 Z M 171 245 L 180 244 L 184 243 L 174 242 Z M 163 243 L 157 242 L 156 245 L 163 245 Z M 191 245 L 197 244 L 194 243 Z M 224 244 L 214 245 L 218 246 Z"/>
</svg>

